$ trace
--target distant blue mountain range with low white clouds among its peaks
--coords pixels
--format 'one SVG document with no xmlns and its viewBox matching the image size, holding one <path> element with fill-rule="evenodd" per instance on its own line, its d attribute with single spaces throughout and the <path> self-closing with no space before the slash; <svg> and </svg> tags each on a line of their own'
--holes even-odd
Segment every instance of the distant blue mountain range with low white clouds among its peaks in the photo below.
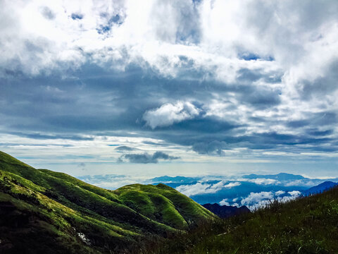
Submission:
<svg viewBox="0 0 338 254">
<path fill-rule="evenodd" d="M 320 185 L 324 181 L 287 173 L 249 174 L 232 179 L 221 176 L 160 176 L 149 179 L 153 184 L 165 183 L 200 204 L 218 203 L 236 207 L 246 205 L 250 209 L 255 209 L 267 200 L 290 200 L 300 195 L 323 191 L 330 186 L 328 183 Z M 326 181 L 332 182 L 333 186 L 338 179 Z"/>
</svg>

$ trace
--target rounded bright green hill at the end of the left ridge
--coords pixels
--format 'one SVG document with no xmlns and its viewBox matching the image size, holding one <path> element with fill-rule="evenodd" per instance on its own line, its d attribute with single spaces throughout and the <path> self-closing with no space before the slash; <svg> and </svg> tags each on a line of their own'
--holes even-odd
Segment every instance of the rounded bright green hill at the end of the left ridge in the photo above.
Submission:
<svg viewBox="0 0 338 254">
<path fill-rule="evenodd" d="M 175 229 L 188 229 L 215 215 L 174 188 L 132 184 L 114 191 L 120 200 L 137 212 Z"/>
</svg>

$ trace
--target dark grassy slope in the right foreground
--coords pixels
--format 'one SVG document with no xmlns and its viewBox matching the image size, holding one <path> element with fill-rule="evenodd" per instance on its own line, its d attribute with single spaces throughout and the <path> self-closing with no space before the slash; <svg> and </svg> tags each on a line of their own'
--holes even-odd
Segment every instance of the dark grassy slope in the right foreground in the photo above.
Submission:
<svg viewBox="0 0 338 254">
<path fill-rule="evenodd" d="M 338 253 L 338 187 L 206 223 L 144 253 Z"/>
</svg>

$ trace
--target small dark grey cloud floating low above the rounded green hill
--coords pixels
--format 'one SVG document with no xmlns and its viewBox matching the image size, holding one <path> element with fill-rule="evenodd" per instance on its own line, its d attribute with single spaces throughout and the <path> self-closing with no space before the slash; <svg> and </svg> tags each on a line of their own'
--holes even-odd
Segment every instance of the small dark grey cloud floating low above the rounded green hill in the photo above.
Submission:
<svg viewBox="0 0 338 254">
<path fill-rule="evenodd" d="M 149 155 L 148 153 L 144 152 L 143 154 L 127 154 L 121 155 L 118 158 L 118 162 L 124 162 L 124 159 L 131 163 L 158 163 L 159 159 L 163 160 L 173 160 L 173 159 L 180 159 L 180 157 L 170 156 L 165 154 L 164 152 L 154 152 L 153 155 Z"/>
</svg>

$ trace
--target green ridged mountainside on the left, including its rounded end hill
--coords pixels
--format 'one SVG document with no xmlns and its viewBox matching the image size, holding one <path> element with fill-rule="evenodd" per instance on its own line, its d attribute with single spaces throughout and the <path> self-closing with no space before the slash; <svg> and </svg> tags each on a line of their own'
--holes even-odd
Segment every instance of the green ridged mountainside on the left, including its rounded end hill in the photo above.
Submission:
<svg viewBox="0 0 338 254">
<path fill-rule="evenodd" d="M 0 152 L 0 253 L 128 253 L 213 218 L 164 184 L 109 191 Z"/>
</svg>

